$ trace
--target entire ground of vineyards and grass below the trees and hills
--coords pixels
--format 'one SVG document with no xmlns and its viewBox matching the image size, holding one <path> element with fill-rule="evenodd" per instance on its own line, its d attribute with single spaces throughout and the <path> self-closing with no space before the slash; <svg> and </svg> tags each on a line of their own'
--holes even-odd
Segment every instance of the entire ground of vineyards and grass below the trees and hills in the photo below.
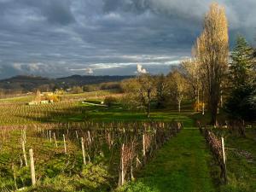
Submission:
<svg viewBox="0 0 256 192">
<path fill-rule="evenodd" d="M 108 94 L 67 95 L 40 106 L 27 106 L 26 96 L 1 100 L 0 191 L 256 191 L 255 127 L 246 137 L 211 128 L 225 141 L 224 184 L 195 124 L 207 115 L 154 109 L 148 119 L 120 104 L 94 105 Z"/>
</svg>

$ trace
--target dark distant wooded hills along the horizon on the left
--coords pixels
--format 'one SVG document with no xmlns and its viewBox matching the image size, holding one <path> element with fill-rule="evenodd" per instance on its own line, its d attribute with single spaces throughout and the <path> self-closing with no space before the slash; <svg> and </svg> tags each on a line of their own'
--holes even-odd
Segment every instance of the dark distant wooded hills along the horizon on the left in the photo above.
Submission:
<svg viewBox="0 0 256 192">
<path fill-rule="evenodd" d="M 38 76 L 19 75 L 10 79 L 0 80 L 1 90 L 55 90 L 67 89 L 73 86 L 82 86 L 85 84 L 100 84 L 107 82 L 116 82 L 123 79 L 129 79 L 133 76 L 81 76 L 73 75 L 58 79 L 48 79 Z"/>
</svg>

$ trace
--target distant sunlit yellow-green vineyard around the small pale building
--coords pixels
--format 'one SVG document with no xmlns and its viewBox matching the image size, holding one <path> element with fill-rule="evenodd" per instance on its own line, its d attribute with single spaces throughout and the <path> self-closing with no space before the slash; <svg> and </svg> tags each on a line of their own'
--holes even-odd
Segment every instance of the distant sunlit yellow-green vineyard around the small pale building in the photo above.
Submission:
<svg viewBox="0 0 256 192">
<path fill-rule="evenodd" d="M 101 99 L 109 93 L 110 91 L 107 90 L 98 91 L 96 98 Z M 60 97 L 61 102 L 35 106 L 26 105 L 27 102 L 32 101 L 32 96 L 2 99 L 0 100 L 0 125 L 27 125 L 67 119 L 71 115 L 83 113 L 79 102 L 95 98 L 95 92 L 67 94 Z"/>
</svg>

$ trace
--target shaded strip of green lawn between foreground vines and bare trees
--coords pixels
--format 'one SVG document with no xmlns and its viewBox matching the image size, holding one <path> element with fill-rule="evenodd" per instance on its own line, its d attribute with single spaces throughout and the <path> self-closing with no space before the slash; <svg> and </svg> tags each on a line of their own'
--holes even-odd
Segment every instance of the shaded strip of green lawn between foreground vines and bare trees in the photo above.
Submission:
<svg viewBox="0 0 256 192">
<path fill-rule="evenodd" d="M 150 118 L 147 117 L 143 111 L 131 111 L 115 106 L 113 108 L 100 107 L 100 106 L 87 106 L 80 105 L 74 108 L 65 108 L 61 111 L 49 111 L 43 117 L 36 117 L 38 112 L 34 115 L 26 115 L 26 119 L 34 122 L 83 122 L 86 120 L 93 121 L 182 121 L 184 126 L 192 127 L 194 122 L 189 118 L 191 111 L 183 111 L 177 113 L 173 110 L 156 110 L 153 109 L 150 113 Z M 24 117 L 24 116 L 23 116 Z"/>
</svg>

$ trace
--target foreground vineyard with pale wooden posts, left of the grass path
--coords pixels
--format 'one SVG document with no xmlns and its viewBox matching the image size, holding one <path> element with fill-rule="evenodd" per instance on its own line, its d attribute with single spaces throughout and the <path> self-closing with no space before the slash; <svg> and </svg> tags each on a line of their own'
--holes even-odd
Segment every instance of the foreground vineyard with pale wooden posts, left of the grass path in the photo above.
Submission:
<svg viewBox="0 0 256 192">
<path fill-rule="evenodd" d="M 3 189 L 13 190 L 14 186 L 19 189 L 31 185 L 27 148 L 34 151 L 38 182 L 44 183 L 46 177 L 60 173 L 76 174 L 76 171 L 83 169 L 83 165 L 100 163 L 108 167 L 108 174 L 112 175 L 113 183 L 109 183 L 110 186 L 123 185 L 125 180 L 132 179 L 133 169 L 143 166 L 154 150 L 175 136 L 181 128 L 175 122 L 3 126 L 0 162 L 1 172 L 6 170 L 2 173 L 2 182 L 13 181 Z M 54 172 L 49 171 L 49 167 Z"/>
</svg>

